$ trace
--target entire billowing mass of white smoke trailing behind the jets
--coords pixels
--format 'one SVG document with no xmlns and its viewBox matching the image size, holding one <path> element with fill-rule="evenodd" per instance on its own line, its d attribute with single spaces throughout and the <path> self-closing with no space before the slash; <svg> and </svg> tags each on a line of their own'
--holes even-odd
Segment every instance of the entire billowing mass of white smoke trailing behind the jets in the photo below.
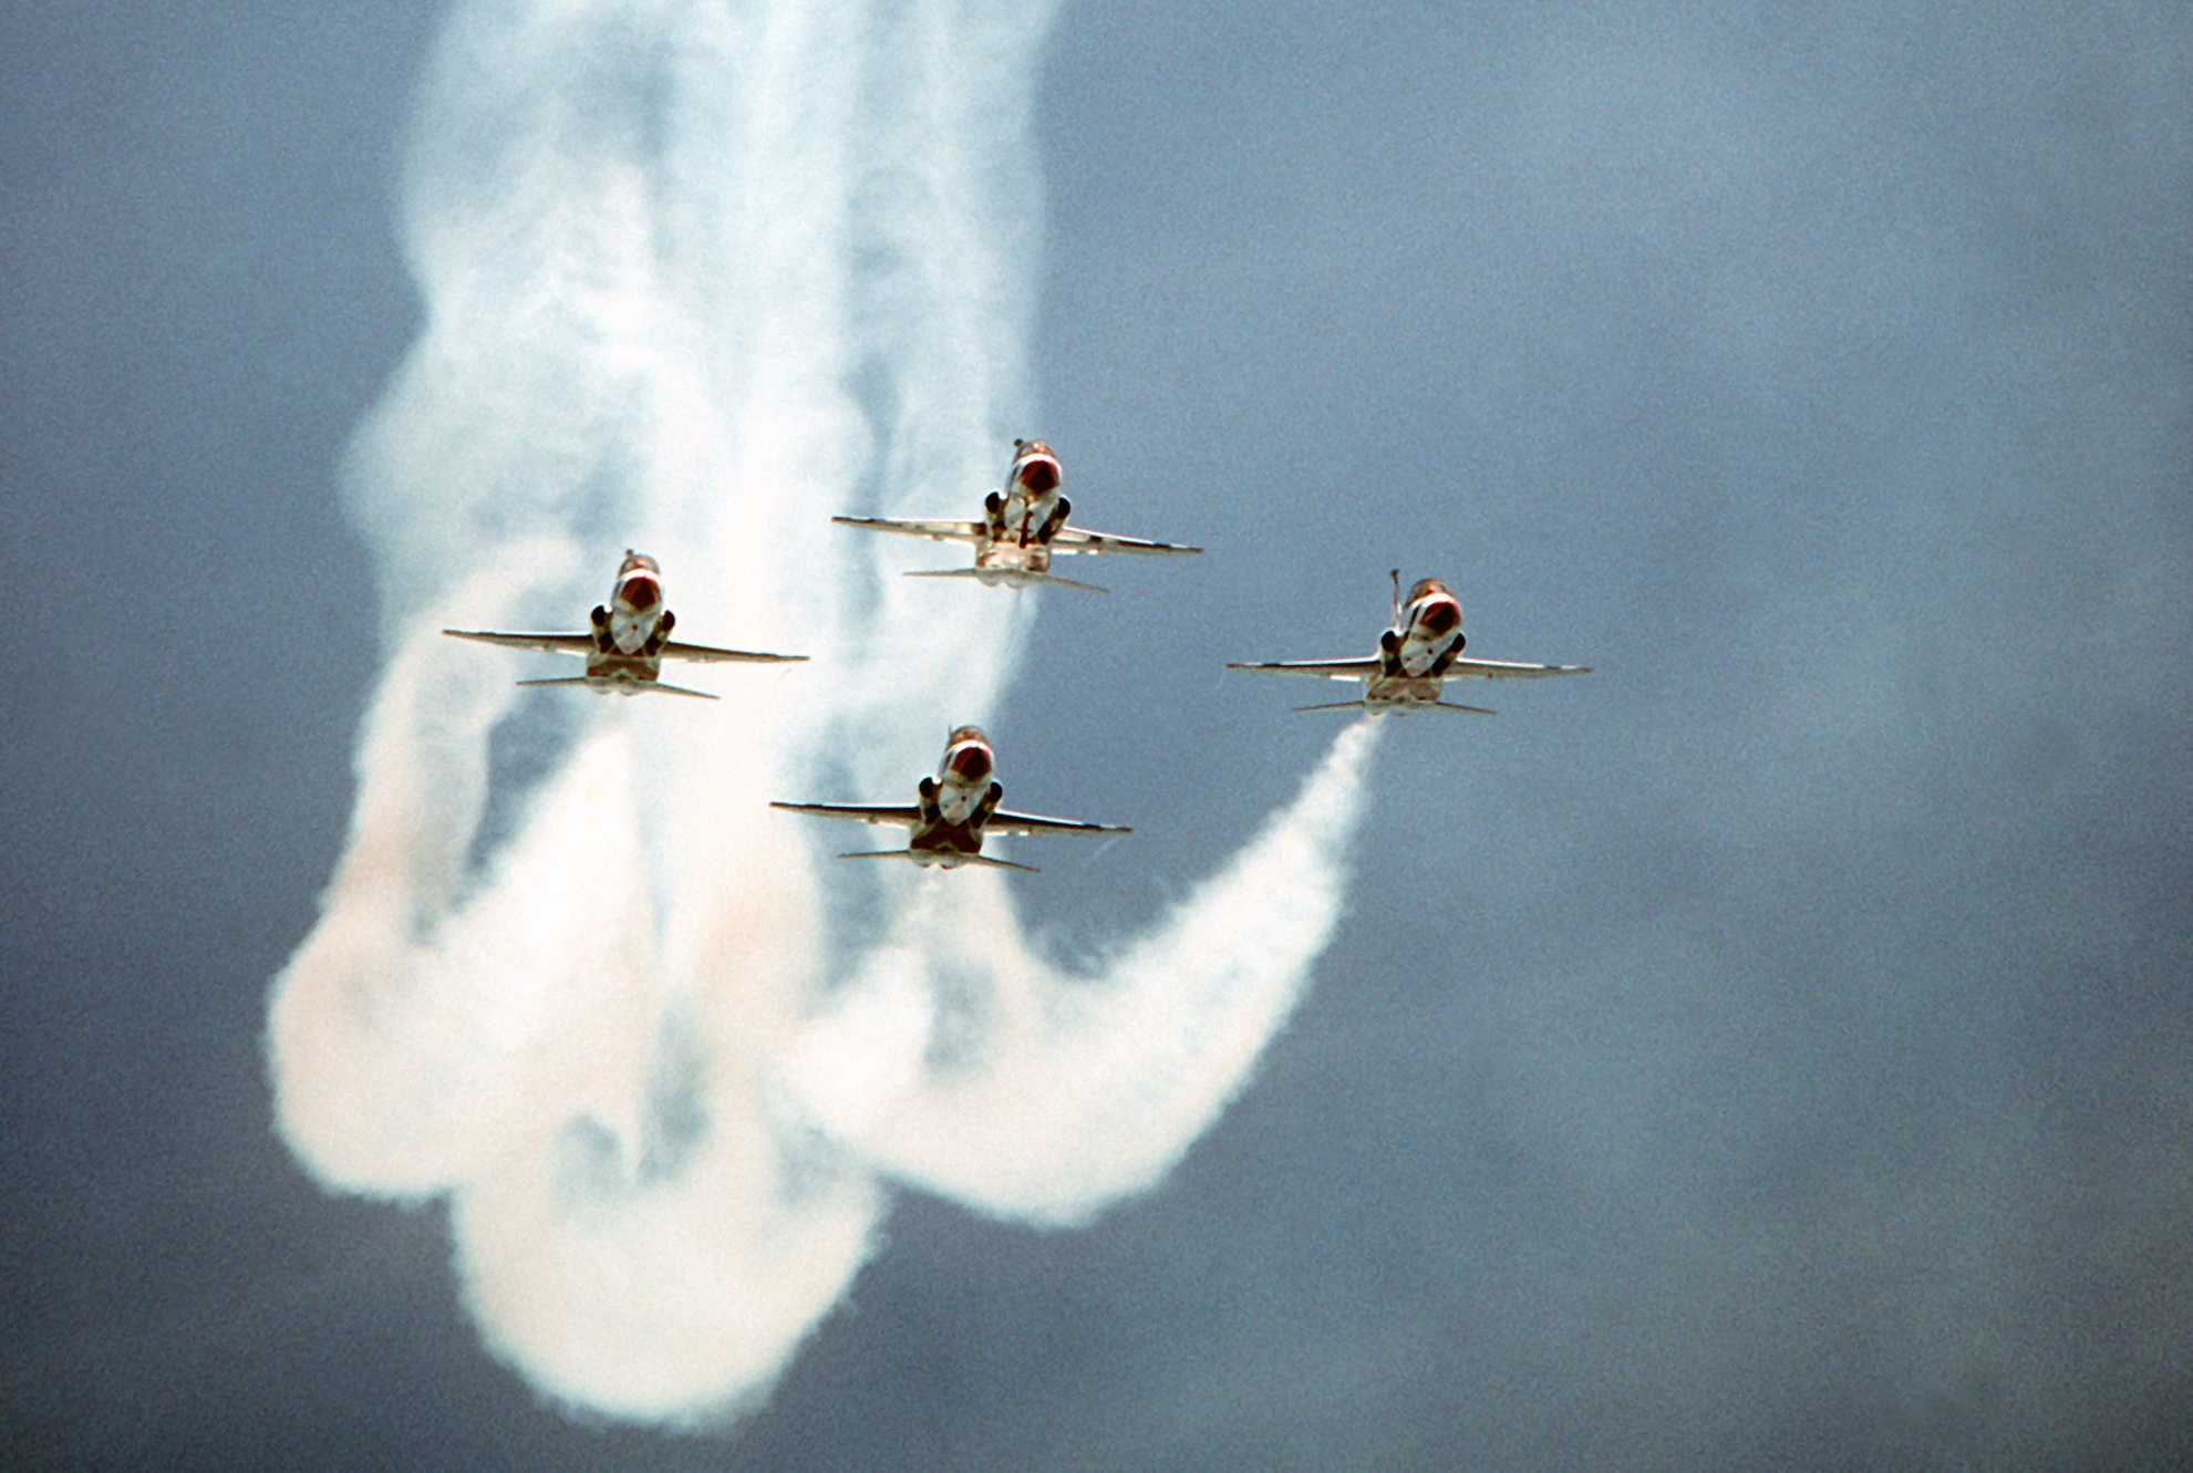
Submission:
<svg viewBox="0 0 2193 1473">
<path fill-rule="evenodd" d="M 349 469 L 390 658 L 270 1070 L 322 1181 L 450 1197 L 482 1335 L 564 1401 L 752 1403 L 882 1179 L 1044 1223 L 1147 1188 L 1338 918 L 1368 726 L 1086 980 L 993 875 L 849 877 L 765 807 L 825 761 L 908 789 L 1013 664 L 1031 601 L 827 517 L 969 502 L 1024 414 L 1048 11 L 467 0 L 423 88 L 428 320 Z M 816 662 L 625 704 L 434 633 L 568 627 L 627 544 L 682 631 Z M 849 883 L 875 936 L 825 923 Z"/>
</svg>

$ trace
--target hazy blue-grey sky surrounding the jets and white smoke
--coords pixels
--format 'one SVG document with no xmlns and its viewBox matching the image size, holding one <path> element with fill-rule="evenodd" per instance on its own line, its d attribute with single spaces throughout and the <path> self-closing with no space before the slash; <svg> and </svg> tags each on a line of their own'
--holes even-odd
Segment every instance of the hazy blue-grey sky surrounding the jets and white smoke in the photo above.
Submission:
<svg viewBox="0 0 2193 1473">
<path fill-rule="evenodd" d="M 717 1440 L 542 1407 L 439 1210 L 270 1135 L 436 20 L 0 15 L 0 1460 L 2193 1462 L 2182 11 L 1068 4 L 1024 432 L 1211 555 L 1048 598 L 991 723 L 1136 824 L 1018 883 L 1055 954 L 1294 791 L 1320 688 L 1219 666 L 1368 653 L 1395 563 L 1597 673 L 1386 732 L 1158 1192 L 904 1197 Z"/>
</svg>

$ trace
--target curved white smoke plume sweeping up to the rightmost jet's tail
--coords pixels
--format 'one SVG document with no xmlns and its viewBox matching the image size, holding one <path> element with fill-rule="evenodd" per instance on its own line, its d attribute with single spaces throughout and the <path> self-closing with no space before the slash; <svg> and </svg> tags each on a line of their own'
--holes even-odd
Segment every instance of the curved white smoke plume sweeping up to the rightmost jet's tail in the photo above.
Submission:
<svg viewBox="0 0 2193 1473">
<path fill-rule="evenodd" d="M 1149 1188 L 1243 1085 L 1340 916 L 1375 721 L 1103 978 L 1029 954 L 1004 886 L 936 886 L 800 1041 L 833 1140 L 971 1208 L 1075 1223 Z"/>
</svg>

